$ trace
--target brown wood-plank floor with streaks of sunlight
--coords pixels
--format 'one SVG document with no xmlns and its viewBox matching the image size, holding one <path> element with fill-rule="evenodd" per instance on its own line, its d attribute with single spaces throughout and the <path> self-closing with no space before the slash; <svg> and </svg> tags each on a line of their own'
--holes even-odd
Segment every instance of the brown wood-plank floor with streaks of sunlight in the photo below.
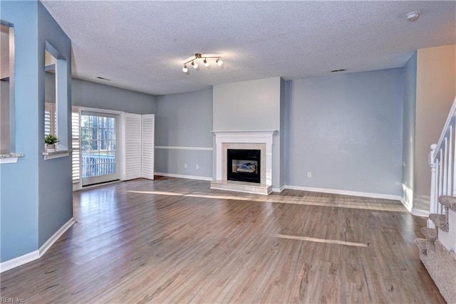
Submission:
<svg viewBox="0 0 456 304">
<path fill-rule="evenodd" d="M 398 201 L 158 177 L 74 193 L 78 221 L 1 274 L 25 303 L 445 303 Z"/>
</svg>

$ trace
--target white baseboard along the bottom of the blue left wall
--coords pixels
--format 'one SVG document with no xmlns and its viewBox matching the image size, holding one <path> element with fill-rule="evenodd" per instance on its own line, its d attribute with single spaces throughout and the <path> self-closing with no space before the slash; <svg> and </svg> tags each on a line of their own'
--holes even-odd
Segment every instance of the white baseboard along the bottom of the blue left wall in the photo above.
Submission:
<svg viewBox="0 0 456 304">
<path fill-rule="evenodd" d="M 32 251 L 29 253 L 24 254 L 24 256 L 18 256 L 17 258 L 11 258 L 9 261 L 4 261 L 3 263 L 0 263 L 0 273 L 4 271 L 9 271 L 12 268 L 16 268 L 17 266 L 24 265 L 26 263 L 29 263 L 31 261 L 35 261 L 38 258 L 41 258 L 46 251 L 48 251 L 49 248 L 53 245 L 53 243 L 56 243 L 58 238 L 62 236 L 65 231 L 67 231 L 73 224 L 76 223 L 76 221 L 71 218 L 69 221 L 67 221 L 63 226 L 61 226 L 61 229 L 58 229 L 58 231 L 51 236 L 48 241 L 43 243 L 43 246 L 41 246 L 38 250 Z"/>
</svg>

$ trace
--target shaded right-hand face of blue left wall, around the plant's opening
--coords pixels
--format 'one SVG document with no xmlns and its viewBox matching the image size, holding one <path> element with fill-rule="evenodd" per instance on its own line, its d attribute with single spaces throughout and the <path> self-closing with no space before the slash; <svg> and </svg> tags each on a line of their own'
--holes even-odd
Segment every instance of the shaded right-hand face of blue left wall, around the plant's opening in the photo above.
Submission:
<svg viewBox="0 0 456 304">
<path fill-rule="evenodd" d="M 45 101 L 45 41 L 51 44 L 59 53 L 59 58 L 66 60 L 67 74 L 63 75 L 68 83 L 66 96 L 66 112 L 59 112 L 59 125 L 66 115 L 66 138 L 71 145 L 71 40 L 58 26 L 51 14 L 41 2 L 38 4 L 38 130 L 44 130 L 44 101 Z M 59 64 L 59 63 L 58 63 Z M 62 77 L 58 75 L 58 77 Z M 63 103 L 59 101 L 61 110 Z M 63 128 L 61 128 L 63 129 Z M 59 137 L 63 137 L 62 130 Z M 43 150 L 44 132 L 38 133 L 39 143 Z M 38 157 L 38 247 L 42 246 L 58 229 L 73 217 L 73 193 L 71 180 L 71 157 L 44 160 Z M 51 193 L 51 195 L 50 195 Z"/>
</svg>

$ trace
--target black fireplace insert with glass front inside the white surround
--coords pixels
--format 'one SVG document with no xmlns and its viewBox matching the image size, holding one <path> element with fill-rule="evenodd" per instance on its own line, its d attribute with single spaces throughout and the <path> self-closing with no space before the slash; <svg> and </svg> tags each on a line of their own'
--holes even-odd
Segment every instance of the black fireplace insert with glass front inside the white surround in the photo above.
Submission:
<svg viewBox="0 0 456 304">
<path fill-rule="evenodd" d="M 261 150 L 227 150 L 227 180 L 259 184 L 260 172 Z"/>
</svg>

